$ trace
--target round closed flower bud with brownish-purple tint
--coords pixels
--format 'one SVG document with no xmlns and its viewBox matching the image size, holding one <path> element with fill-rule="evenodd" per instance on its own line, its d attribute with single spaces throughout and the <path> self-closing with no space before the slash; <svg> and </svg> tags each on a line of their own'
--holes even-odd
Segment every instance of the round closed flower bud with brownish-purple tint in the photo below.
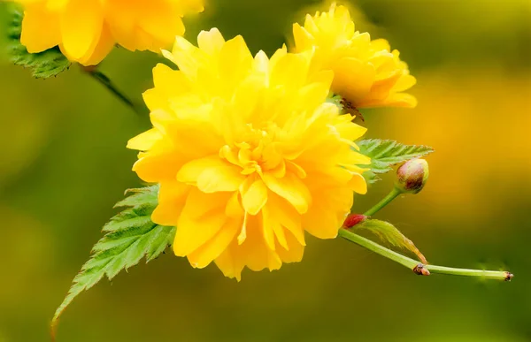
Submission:
<svg viewBox="0 0 531 342">
<path fill-rule="evenodd" d="M 426 185 L 429 169 L 424 159 L 412 159 L 405 162 L 396 171 L 395 186 L 408 194 L 418 194 Z"/>
</svg>

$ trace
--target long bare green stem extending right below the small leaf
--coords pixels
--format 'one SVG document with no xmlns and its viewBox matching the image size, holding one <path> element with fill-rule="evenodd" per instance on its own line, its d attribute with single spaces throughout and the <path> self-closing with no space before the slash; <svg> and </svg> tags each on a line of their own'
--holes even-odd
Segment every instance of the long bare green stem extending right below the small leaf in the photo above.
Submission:
<svg viewBox="0 0 531 342">
<path fill-rule="evenodd" d="M 394 262 L 398 262 L 404 267 L 413 270 L 416 274 L 429 276 L 430 273 L 448 274 L 452 276 L 465 276 L 465 277 L 484 277 L 487 279 L 499 279 L 499 280 L 511 280 L 512 274 L 506 271 L 496 270 L 467 270 L 467 269 L 454 269 L 451 267 L 424 265 L 418 261 L 409 258 L 405 255 L 396 253 L 389 248 L 383 247 L 376 242 L 366 239 L 358 234 L 349 232 L 346 229 L 339 230 L 339 236 L 344 239 L 348 239 L 350 242 L 365 247 L 366 249 L 373 251 L 374 253 L 386 257 Z"/>
</svg>

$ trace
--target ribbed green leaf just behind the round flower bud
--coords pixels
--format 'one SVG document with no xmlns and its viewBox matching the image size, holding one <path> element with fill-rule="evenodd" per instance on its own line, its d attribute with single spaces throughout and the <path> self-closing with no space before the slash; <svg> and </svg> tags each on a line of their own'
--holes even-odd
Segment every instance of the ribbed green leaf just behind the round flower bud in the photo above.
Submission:
<svg viewBox="0 0 531 342">
<path fill-rule="evenodd" d="M 371 170 L 364 173 L 369 183 L 380 180 L 377 174 L 391 171 L 392 166 L 397 163 L 427 156 L 434 152 L 434 149 L 429 146 L 404 145 L 396 141 L 382 141 L 379 139 L 357 141 L 356 144 L 359 147 L 359 153 L 371 158 L 371 163 L 368 165 Z"/>
</svg>

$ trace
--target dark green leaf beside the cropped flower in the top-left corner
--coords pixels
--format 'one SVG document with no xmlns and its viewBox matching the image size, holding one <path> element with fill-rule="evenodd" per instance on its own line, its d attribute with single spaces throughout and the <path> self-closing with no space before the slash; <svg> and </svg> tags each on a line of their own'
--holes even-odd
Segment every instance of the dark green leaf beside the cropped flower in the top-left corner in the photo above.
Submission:
<svg viewBox="0 0 531 342">
<path fill-rule="evenodd" d="M 39 53 L 29 53 L 20 43 L 22 33 L 22 19 L 24 11 L 18 4 L 9 4 L 8 11 L 12 17 L 7 27 L 7 55 L 15 65 L 21 65 L 32 70 L 37 79 L 47 79 L 57 76 L 67 70 L 71 63 L 61 53 L 58 47 L 47 49 Z M 43 30 L 46 27 L 42 27 Z"/>
</svg>

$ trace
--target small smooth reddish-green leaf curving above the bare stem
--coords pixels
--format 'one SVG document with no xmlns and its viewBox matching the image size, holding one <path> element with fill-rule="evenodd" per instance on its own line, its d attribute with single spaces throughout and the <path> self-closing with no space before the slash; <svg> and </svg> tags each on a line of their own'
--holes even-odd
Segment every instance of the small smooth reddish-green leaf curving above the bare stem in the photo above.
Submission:
<svg viewBox="0 0 531 342">
<path fill-rule="evenodd" d="M 352 230 L 365 229 L 378 236 L 381 240 L 389 242 L 392 246 L 404 248 L 419 257 L 420 262 L 427 264 L 427 260 L 420 253 L 411 239 L 407 239 L 393 224 L 381 220 L 367 219 L 352 227 Z"/>
</svg>

